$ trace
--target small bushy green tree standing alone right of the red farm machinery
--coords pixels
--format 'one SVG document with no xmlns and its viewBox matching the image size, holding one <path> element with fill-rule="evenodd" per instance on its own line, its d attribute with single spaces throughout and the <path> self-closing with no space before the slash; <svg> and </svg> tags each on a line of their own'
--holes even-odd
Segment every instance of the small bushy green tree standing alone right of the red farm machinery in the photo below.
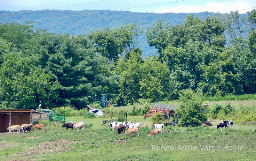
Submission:
<svg viewBox="0 0 256 161">
<path fill-rule="evenodd" d="M 206 121 L 199 95 L 192 90 L 182 90 L 179 99 L 180 104 L 176 108 L 176 112 L 181 114 L 179 126 L 199 126 L 202 121 Z"/>
</svg>

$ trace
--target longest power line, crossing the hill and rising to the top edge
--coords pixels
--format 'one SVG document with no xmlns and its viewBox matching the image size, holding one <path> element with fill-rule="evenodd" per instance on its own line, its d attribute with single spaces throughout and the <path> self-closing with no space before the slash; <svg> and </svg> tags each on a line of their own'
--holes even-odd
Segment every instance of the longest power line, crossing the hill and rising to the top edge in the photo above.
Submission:
<svg viewBox="0 0 256 161">
<path fill-rule="evenodd" d="M 170 3 L 181 2 L 181 1 L 188 1 L 188 0 L 179 0 L 179 1 L 173 1 L 173 2 L 161 3 L 161 4 L 170 4 Z M 23 21 L 13 21 L 13 22 L 8 22 L 8 23 L 14 23 L 14 22 L 26 22 L 26 21 L 36 21 L 36 20 L 53 19 L 53 18 L 64 18 L 64 17 L 73 17 L 73 16 L 82 16 L 82 15 L 88 15 L 88 14 L 94 14 L 94 13 L 111 12 L 111 11 L 120 11 L 120 10 L 127 10 L 127 9 L 133 9 L 133 8 L 148 7 L 148 6 L 153 6 L 153 5 L 161 5 L 161 4 L 151 4 L 151 5 L 145 5 L 145 6 L 138 6 L 138 7 L 124 8 L 124 9 L 119 9 L 119 10 L 100 11 L 100 12 L 84 13 L 84 14 L 70 15 L 70 16 L 61 16 L 61 17 L 52 17 L 52 18 L 39 18 L 39 19 L 31 19 L 31 20 L 23 20 Z"/>
</svg>

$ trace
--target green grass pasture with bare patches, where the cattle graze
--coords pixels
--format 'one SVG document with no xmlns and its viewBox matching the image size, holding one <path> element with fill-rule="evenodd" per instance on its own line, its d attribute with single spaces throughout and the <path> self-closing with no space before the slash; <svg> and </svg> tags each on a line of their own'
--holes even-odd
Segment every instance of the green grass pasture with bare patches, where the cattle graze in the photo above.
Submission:
<svg viewBox="0 0 256 161">
<path fill-rule="evenodd" d="M 117 110 L 125 108 L 130 107 L 118 107 Z M 127 117 L 128 121 L 141 123 L 140 136 L 117 135 L 108 124 L 103 124 L 103 120 L 110 120 L 110 117 L 66 117 L 67 122 L 92 124 L 79 132 L 75 129 L 67 131 L 61 124 L 49 124 L 44 133 L 40 130 L 0 133 L 0 161 L 256 160 L 256 133 L 252 131 L 256 125 L 235 124 L 230 131 L 220 132 L 216 129 L 220 120 L 209 120 L 212 127 L 166 126 L 165 134 L 148 139 L 148 132 L 152 129 L 150 118 Z"/>
</svg>

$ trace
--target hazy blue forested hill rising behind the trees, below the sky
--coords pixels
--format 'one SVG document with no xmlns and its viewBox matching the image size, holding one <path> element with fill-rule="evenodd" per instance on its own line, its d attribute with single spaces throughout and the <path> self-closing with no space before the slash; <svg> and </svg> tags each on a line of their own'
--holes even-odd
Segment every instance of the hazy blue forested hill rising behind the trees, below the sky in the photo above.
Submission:
<svg viewBox="0 0 256 161">
<path fill-rule="evenodd" d="M 90 33 L 95 29 L 104 29 L 106 26 L 113 29 L 116 26 L 125 26 L 126 23 L 129 25 L 136 23 L 146 29 L 152 27 L 152 24 L 155 24 L 158 19 L 171 22 L 168 23 L 170 25 L 180 25 L 185 22 L 186 16 L 190 14 L 201 19 L 214 14 L 212 12 L 160 14 L 110 10 L 23 10 L 19 11 L 21 13 L 17 12 L 0 11 L 0 23 L 18 21 L 18 23 L 26 24 L 25 21 L 33 20 L 33 26 L 36 29 L 43 28 L 49 30 L 51 33 L 69 33 L 71 35 Z M 144 56 L 157 54 L 156 49 L 149 47 L 146 43 L 145 35 L 140 37 L 138 47 L 143 51 Z"/>
</svg>

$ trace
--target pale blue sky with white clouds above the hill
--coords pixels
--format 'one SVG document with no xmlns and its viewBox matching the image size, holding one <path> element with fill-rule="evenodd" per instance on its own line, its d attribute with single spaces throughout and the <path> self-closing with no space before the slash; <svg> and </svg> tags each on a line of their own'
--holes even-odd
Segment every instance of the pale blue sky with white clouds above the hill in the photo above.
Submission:
<svg viewBox="0 0 256 161">
<path fill-rule="evenodd" d="M 192 13 L 256 9 L 256 0 L 0 0 L 0 11 L 22 10 L 117 10 L 153 13 Z"/>
</svg>

